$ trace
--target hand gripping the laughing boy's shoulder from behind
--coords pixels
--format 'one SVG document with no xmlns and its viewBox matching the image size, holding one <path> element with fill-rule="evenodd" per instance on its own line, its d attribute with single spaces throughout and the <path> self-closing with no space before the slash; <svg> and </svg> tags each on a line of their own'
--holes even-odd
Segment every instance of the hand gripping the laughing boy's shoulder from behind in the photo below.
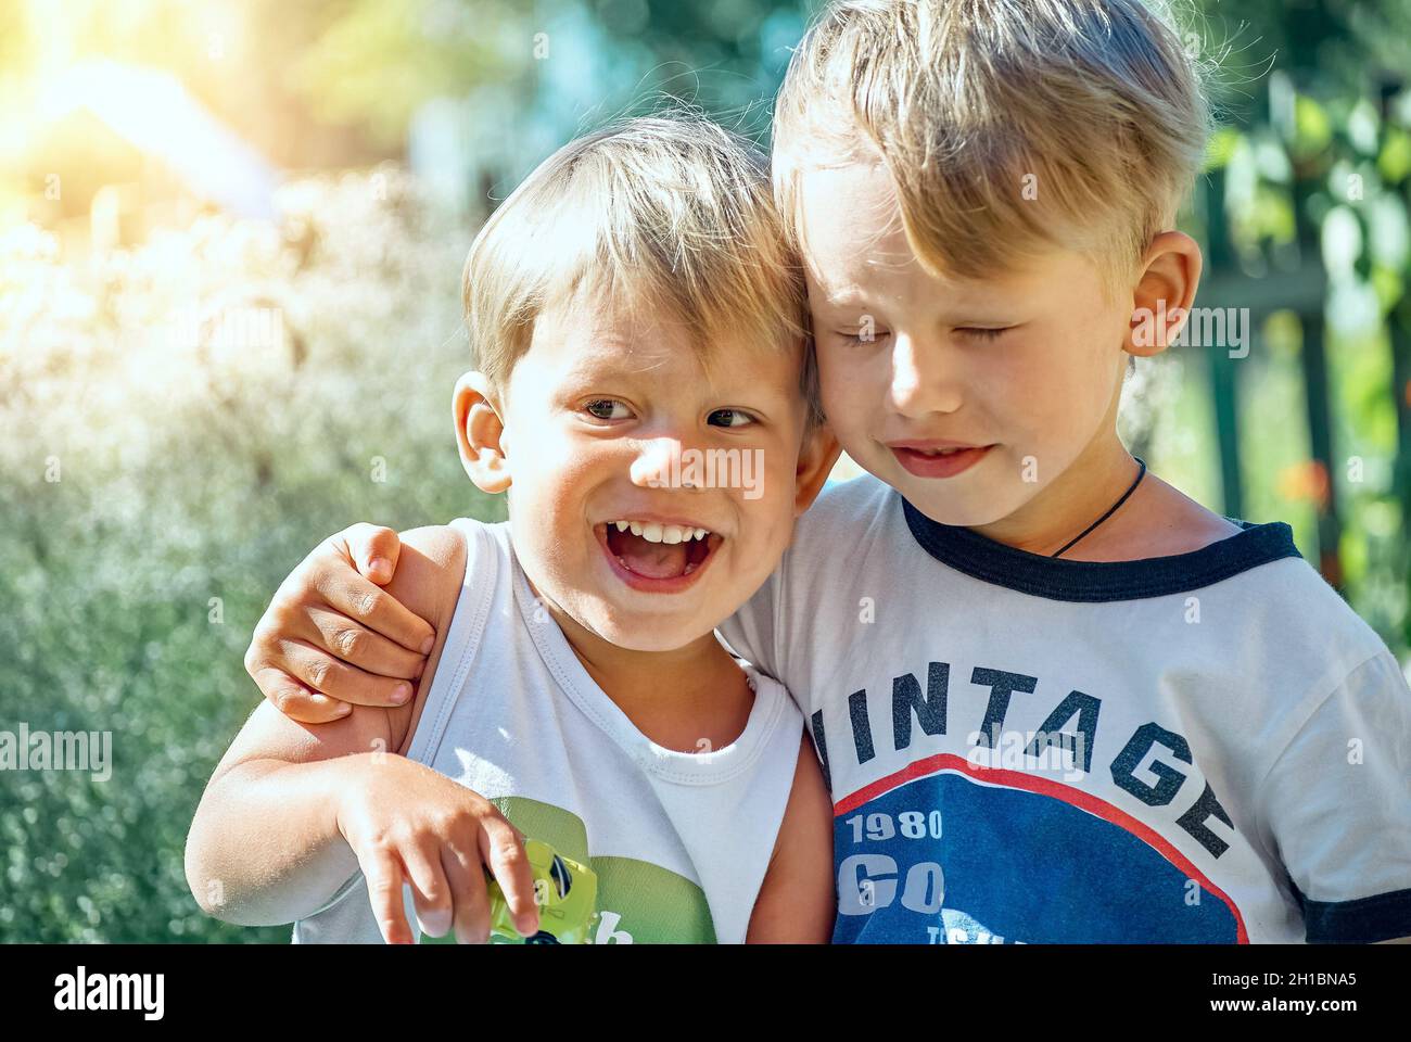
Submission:
<svg viewBox="0 0 1411 1042">
<path fill-rule="evenodd" d="M 319 544 L 281 583 L 246 651 L 246 671 L 281 713 L 327 723 L 346 716 L 347 703 L 411 699 L 436 631 L 380 589 L 401 548 L 391 528 L 360 522 Z"/>
</svg>

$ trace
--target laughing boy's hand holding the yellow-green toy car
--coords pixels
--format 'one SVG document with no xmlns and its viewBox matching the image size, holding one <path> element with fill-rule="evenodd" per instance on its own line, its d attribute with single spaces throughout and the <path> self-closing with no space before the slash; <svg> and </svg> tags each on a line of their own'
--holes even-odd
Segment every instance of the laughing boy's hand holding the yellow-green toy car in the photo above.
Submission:
<svg viewBox="0 0 1411 1042">
<path fill-rule="evenodd" d="M 463 945 L 490 938 L 488 867 L 515 929 L 539 929 L 523 836 L 483 796 L 429 767 L 387 753 L 363 754 L 360 784 L 339 795 L 337 822 L 357 854 L 382 939 L 411 945 L 402 904 L 412 884 L 416 918 L 432 936 Z"/>
</svg>

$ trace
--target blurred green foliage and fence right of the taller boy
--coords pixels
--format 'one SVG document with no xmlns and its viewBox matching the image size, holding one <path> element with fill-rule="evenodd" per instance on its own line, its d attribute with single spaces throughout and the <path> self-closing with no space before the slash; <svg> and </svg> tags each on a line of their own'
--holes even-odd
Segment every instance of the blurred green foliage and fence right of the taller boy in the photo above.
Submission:
<svg viewBox="0 0 1411 1042">
<path fill-rule="evenodd" d="M 1202 11 L 1191 24 L 1222 127 L 1201 186 L 1219 192 L 1198 188 L 1192 215 L 1211 265 L 1199 302 L 1264 304 L 1250 357 L 1230 367 L 1239 431 L 1218 429 L 1219 450 L 1246 515 L 1291 521 L 1304 556 L 1404 655 L 1411 8 Z"/>
</svg>

